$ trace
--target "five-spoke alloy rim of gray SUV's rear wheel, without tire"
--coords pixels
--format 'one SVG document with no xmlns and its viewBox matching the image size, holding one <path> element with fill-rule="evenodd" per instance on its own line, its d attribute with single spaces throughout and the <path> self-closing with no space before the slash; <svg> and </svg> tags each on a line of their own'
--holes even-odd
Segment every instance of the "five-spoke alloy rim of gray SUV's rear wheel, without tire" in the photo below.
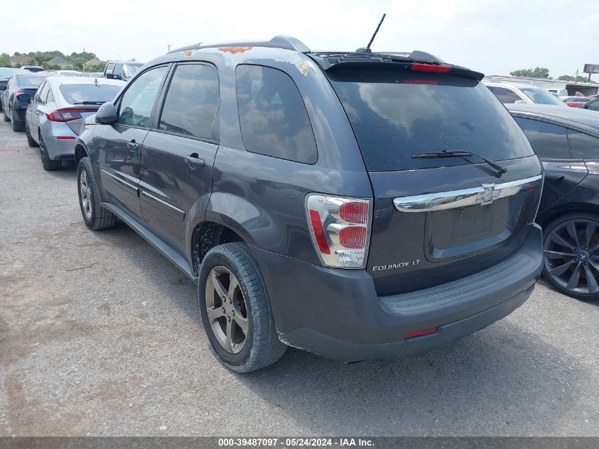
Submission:
<svg viewBox="0 0 599 449">
<path fill-rule="evenodd" d="M 225 267 L 214 267 L 206 281 L 208 321 L 218 343 L 237 354 L 247 341 L 249 320 L 239 282 Z"/>
</svg>

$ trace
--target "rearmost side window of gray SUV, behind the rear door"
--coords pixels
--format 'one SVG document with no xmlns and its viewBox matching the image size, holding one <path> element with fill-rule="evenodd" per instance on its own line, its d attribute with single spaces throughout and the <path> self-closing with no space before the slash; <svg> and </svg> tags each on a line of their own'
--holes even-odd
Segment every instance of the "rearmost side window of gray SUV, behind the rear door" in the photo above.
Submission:
<svg viewBox="0 0 599 449">
<path fill-rule="evenodd" d="M 237 104 L 245 149 L 314 164 L 318 152 L 306 106 L 296 84 L 280 70 L 239 65 Z"/>
</svg>

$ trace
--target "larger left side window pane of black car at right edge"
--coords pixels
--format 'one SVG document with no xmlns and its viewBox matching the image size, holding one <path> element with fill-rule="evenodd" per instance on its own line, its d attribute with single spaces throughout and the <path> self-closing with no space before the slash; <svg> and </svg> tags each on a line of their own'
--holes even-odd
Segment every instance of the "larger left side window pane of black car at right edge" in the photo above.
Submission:
<svg viewBox="0 0 599 449">
<path fill-rule="evenodd" d="M 570 159 L 566 128 L 530 118 L 516 121 L 541 159 Z"/>
</svg>

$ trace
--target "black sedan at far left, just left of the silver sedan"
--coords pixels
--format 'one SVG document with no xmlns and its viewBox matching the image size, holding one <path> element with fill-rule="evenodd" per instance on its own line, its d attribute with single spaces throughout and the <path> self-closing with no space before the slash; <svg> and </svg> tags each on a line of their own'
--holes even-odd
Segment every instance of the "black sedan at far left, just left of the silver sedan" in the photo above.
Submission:
<svg viewBox="0 0 599 449">
<path fill-rule="evenodd" d="M 4 121 L 11 122 L 13 131 L 25 131 L 25 115 L 29 100 L 49 75 L 46 72 L 38 72 L 13 74 L 9 78 L 6 89 L 0 94 L 0 104 Z"/>
</svg>

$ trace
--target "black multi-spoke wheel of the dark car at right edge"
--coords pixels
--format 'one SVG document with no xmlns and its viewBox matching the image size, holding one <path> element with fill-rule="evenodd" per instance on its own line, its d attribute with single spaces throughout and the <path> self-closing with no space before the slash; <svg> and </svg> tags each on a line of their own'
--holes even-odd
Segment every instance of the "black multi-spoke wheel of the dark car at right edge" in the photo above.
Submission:
<svg viewBox="0 0 599 449">
<path fill-rule="evenodd" d="M 561 288 L 599 293 L 599 223 L 586 218 L 559 223 L 545 236 L 544 264 Z"/>
</svg>

